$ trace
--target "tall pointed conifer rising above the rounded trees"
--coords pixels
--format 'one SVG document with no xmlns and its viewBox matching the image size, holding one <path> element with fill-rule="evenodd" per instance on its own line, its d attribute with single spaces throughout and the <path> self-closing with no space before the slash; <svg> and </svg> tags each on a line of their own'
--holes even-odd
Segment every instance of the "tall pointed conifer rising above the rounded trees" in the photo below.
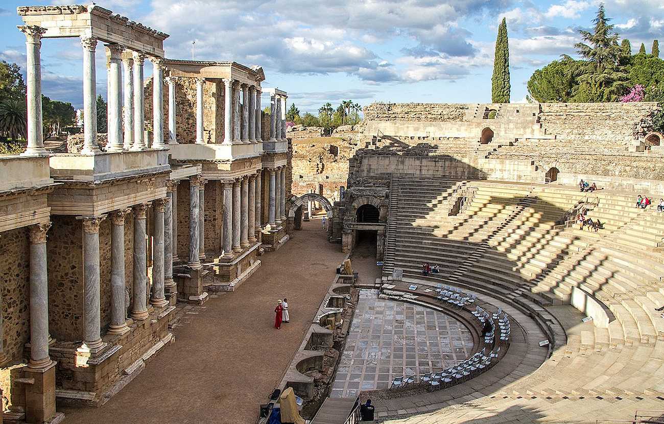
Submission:
<svg viewBox="0 0 664 424">
<path fill-rule="evenodd" d="M 615 101 L 620 94 L 629 87 L 627 74 L 619 66 L 622 51 L 618 45 L 618 33 L 614 32 L 614 25 L 609 25 L 611 19 L 606 17 L 604 3 L 600 3 L 594 32 L 580 30 L 582 39 L 588 43 L 576 43 L 579 55 L 586 59 L 583 74 L 578 77 L 581 86 L 578 93 L 582 93 L 584 100 L 595 102 Z"/>
</svg>

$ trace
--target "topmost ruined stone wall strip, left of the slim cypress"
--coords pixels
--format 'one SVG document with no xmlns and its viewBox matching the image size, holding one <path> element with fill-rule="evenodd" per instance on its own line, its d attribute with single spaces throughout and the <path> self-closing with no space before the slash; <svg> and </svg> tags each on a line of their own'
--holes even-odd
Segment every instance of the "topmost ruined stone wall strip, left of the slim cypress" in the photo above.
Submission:
<svg viewBox="0 0 664 424">
<path fill-rule="evenodd" d="M 365 121 L 459 122 L 468 104 L 372 103 L 365 106 Z"/>
</svg>

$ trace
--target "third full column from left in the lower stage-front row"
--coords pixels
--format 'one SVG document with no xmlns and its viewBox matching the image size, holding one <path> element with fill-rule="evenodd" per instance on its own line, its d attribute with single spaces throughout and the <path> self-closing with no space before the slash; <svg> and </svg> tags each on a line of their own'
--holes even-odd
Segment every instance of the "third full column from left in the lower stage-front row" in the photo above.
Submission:
<svg viewBox="0 0 664 424">
<path fill-rule="evenodd" d="M 130 209 L 113 211 L 111 215 L 111 323 L 109 334 L 125 334 L 129 331 L 125 314 L 125 260 L 124 225 Z"/>
</svg>

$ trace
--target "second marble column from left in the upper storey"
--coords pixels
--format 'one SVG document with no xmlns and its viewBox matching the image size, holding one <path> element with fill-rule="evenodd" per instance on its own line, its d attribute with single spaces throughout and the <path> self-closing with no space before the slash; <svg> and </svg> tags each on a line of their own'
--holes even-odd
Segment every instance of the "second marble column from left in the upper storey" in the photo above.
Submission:
<svg viewBox="0 0 664 424">
<path fill-rule="evenodd" d="M 97 146 L 97 74 L 94 52 L 97 39 L 80 37 L 83 46 L 83 149 L 84 155 L 100 152 Z"/>
</svg>

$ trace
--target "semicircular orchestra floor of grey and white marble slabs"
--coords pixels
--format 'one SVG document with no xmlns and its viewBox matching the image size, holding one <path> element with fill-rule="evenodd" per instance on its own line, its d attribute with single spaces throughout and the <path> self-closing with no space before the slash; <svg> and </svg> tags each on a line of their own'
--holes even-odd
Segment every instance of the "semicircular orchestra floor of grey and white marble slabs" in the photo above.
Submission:
<svg viewBox="0 0 664 424">
<path fill-rule="evenodd" d="M 463 362 L 473 338 L 456 319 L 424 306 L 361 290 L 331 397 L 386 389 L 399 375 L 422 375 Z"/>
</svg>

